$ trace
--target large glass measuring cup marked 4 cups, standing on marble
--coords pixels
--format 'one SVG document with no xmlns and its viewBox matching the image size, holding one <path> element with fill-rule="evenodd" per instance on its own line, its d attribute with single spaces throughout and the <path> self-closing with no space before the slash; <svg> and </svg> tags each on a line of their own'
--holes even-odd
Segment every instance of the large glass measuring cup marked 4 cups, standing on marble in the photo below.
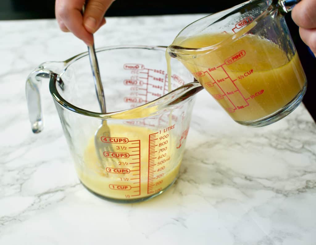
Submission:
<svg viewBox="0 0 316 245">
<path fill-rule="evenodd" d="M 43 129 L 39 85 L 48 78 L 82 184 L 116 202 L 155 197 L 177 178 L 194 94 L 203 87 L 174 60 L 173 91 L 168 93 L 166 47 L 113 46 L 96 51 L 108 113 L 100 113 L 86 52 L 64 62 L 43 63 L 29 75 L 26 95 L 32 130 Z M 104 121 L 110 132 L 99 129 Z M 95 135 L 101 149 L 96 149 Z"/>
</svg>

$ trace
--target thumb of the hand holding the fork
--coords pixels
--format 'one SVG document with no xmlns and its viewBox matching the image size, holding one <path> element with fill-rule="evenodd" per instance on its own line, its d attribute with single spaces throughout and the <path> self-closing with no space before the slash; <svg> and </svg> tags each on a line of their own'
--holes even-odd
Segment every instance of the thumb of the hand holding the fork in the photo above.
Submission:
<svg viewBox="0 0 316 245">
<path fill-rule="evenodd" d="M 90 0 L 85 6 L 83 25 L 90 33 L 96 32 L 104 20 L 106 10 L 114 0 Z"/>
</svg>

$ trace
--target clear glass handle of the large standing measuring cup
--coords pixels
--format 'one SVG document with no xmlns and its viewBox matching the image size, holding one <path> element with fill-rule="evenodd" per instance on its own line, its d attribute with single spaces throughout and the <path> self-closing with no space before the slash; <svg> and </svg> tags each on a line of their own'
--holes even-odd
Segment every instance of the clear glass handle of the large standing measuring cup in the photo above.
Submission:
<svg viewBox="0 0 316 245">
<path fill-rule="evenodd" d="M 52 67 L 52 69 L 48 67 Z M 35 134 L 40 133 L 44 128 L 40 97 L 40 87 L 42 79 L 50 79 L 52 76 L 57 75 L 61 71 L 60 68 L 60 62 L 43 63 L 33 72 L 31 72 L 26 80 L 25 93 L 28 116 L 31 123 L 32 131 Z"/>
</svg>

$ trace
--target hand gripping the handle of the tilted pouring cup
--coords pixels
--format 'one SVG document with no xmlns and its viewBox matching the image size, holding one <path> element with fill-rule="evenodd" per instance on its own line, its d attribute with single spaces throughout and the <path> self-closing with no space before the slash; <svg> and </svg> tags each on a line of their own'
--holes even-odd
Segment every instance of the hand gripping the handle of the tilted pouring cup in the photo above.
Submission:
<svg viewBox="0 0 316 245">
<path fill-rule="evenodd" d="M 302 41 L 316 56 L 316 0 L 302 0 L 296 4 L 292 19 L 300 27 Z"/>
</svg>

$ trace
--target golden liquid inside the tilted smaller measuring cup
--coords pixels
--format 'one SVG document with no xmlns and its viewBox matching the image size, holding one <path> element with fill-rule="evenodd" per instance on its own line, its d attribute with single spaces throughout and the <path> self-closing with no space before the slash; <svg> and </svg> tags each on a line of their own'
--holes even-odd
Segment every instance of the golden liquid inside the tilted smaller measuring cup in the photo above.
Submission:
<svg viewBox="0 0 316 245">
<path fill-rule="evenodd" d="M 202 48 L 228 37 L 201 35 L 175 40 L 173 45 Z M 289 60 L 276 44 L 254 35 L 178 59 L 237 122 L 268 117 L 291 102 L 306 84 L 297 53 Z"/>
</svg>

